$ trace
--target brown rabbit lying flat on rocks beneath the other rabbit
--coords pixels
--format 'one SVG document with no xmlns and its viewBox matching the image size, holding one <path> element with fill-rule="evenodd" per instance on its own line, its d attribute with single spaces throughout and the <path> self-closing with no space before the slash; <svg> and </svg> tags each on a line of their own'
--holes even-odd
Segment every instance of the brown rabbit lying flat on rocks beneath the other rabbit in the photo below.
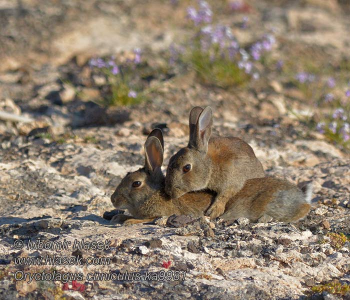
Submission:
<svg viewBox="0 0 350 300">
<path fill-rule="evenodd" d="M 163 137 L 155 128 L 144 143 L 144 167 L 126 174 L 110 199 L 114 207 L 128 209 L 135 217 L 116 215 L 112 221 L 124 224 L 149 222 L 156 217 L 171 214 L 203 216 L 215 199 L 209 191 L 188 192 L 170 198 L 164 191 L 165 177 L 161 172 L 163 162 Z M 262 216 L 281 221 L 294 221 L 308 212 L 311 198 L 310 186 L 303 192 L 296 185 L 275 177 L 253 178 L 226 203 L 225 220 L 246 217 L 252 221 Z"/>
</svg>

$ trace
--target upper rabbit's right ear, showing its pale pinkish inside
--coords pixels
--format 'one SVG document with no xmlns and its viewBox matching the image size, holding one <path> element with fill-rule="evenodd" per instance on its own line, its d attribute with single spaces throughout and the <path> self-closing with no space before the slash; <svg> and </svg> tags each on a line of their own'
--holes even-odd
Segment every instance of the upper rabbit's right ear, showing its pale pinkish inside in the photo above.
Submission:
<svg viewBox="0 0 350 300">
<path fill-rule="evenodd" d="M 198 149 L 199 151 L 206 152 L 211 134 L 211 125 L 212 111 L 210 106 L 207 106 L 198 116 L 194 134 L 190 136 L 188 145 Z"/>
</svg>

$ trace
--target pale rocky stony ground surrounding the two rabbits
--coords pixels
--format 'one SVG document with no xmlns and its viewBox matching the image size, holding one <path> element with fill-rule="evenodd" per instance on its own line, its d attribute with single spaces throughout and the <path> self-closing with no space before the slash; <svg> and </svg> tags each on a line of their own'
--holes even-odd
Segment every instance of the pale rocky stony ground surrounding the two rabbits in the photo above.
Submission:
<svg viewBox="0 0 350 300">
<path fill-rule="evenodd" d="M 222 3 L 221 3 L 222 2 Z M 275 27 L 276 58 L 304 63 L 350 59 L 346 1 L 249 2 L 246 42 Z M 292 111 L 314 109 L 274 72 L 247 88 L 200 84 L 180 68 L 149 79 L 147 101 L 101 107 L 103 77 L 87 65 L 94 55 L 144 49 L 157 70 L 174 39 L 185 38 L 189 1 L 0 1 L 0 110 L 30 118 L 0 120 L 0 298 L 12 299 L 339 299 L 350 284 L 350 156 Z M 221 5 L 221 6 L 220 6 Z M 242 12 L 215 13 L 232 24 Z M 67 83 L 68 82 L 68 83 Z M 192 106 L 210 105 L 214 133 L 243 138 L 267 174 L 313 181 L 314 207 L 298 223 L 232 222 L 184 216 L 150 224 L 110 224 L 110 195 L 143 163 L 143 143 L 164 132 L 165 162 L 186 144 Z M 345 235 L 341 235 L 343 233 Z M 105 249 L 18 250 L 22 239 L 110 241 Z M 107 257 L 104 265 L 15 264 L 18 257 Z M 15 280 L 16 271 L 83 273 L 59 280 Z M 162 271 L 169 277 L 161 277 Z M 177 271 L 177 272 L 176 272 Z M 87 280 L 87 273 L 140 274 Z M 151 280 L 147 272 L 158 272 Z M 20 273 L 19 273 L 20 274 Z M 178 275 L 180 274 L 180 275 Z M 185 275 L 184 275 L 185 274 Z M 170 276 L 171 275 L 171 276 Z M 175 277 L 176 275 L 179 276 Z M 183 277 L 184 276 L 184 277 Z M 170 278 L 171 277 L 171 278 Z M 166 280 L 169 279 L 170 280 Z M 184 278 L 184 279 L 183 279 Z M 81 284 L 81 285 L 80 285 Z"/>
</svg>

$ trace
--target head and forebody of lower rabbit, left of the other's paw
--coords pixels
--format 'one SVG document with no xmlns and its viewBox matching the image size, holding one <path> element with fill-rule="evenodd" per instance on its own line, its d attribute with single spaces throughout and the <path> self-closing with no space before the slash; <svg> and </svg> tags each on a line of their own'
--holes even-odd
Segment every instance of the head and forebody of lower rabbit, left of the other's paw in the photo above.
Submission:
<svg viewBox="0 0 350 300">
<path fill-rule="evenodd" d="M 155 128 L 144 143 L 144 167 L 127 173 L 111 195 L 116 208 L 127 209 L 136 218 L 126 219 L 124 224 L 146 222 L 171 214 L 204 216 L 204 211 L 214 200 L 214 194 L 209 192 L 189 192 L 177 199 L 171 199 L 164 192 L 165 176 L 160 169 L 163 148 L 162 132 Z M 113 221 L 125 217 L 116 215 Z"/>
</svg>

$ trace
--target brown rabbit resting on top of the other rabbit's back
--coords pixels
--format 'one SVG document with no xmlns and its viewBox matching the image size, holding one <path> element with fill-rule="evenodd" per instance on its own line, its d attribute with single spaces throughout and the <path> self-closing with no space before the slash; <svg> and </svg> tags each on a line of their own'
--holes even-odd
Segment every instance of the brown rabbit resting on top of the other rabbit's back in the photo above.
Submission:
<svg viewBox="0 0 350 300">
<path fill-rule="evenodd" d="M 221 215 L 227 201 L 250 178 L 264 177 L 253 149 L 238 137 L 210 137 L 212 111 L 193 107 L 189 113 L 189 141 L 170 157 L 165 192 L 178 198 L 189 191 L 209 189 L 217 193 L 206 211 L 210 218 Z"/>
</svg>

